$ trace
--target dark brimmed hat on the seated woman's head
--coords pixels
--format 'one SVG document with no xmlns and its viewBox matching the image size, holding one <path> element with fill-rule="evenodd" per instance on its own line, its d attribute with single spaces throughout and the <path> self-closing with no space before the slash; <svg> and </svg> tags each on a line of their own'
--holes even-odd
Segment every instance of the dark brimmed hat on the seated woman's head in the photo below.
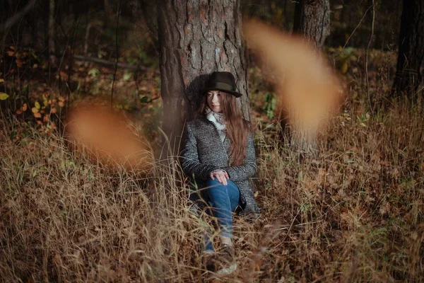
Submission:
<svg viewBox="0 0 424 283">
<path fill-rule="evenodd" d="M 201 94 L 205 94 L 208 91 L 223 91 L 230 93 L 235 97 L 242 96 L 242 93 L 236 91 L 234 76 L 229 71 L 214 71 L 206 81 L 205 89 L 201 91 Z"/>
</svg>

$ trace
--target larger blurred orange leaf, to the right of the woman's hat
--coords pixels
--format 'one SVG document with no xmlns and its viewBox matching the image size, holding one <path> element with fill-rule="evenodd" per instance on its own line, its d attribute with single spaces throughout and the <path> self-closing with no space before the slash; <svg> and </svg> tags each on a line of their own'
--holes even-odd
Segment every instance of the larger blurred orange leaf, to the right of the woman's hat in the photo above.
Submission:
<svg viewBox="0 0 424 283">
<path fill-rule="evenodd" d="M 257 21 L 246 21 L 245 38 L 276 74 L 277 108 L 295 132 L 314 137 L 341 102 L 338 80 L 304 38 Z"/>
</svg>

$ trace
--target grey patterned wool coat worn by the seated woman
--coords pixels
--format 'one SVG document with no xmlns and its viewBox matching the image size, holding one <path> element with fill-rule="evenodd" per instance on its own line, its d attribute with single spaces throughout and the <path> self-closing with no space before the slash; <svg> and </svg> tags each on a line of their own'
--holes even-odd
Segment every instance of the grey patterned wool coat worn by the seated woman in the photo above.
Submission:
<svg viewBox="0 0 424 283">
<path fill-rule="evenodd" d="M 198 188 L 205 187 L 206 180 L 210 178 L 209 173 L 212 171 L 216 169 L 227 171 L 230 180 L 239 187 L 241 207 L 246 212 L 259 212 L 252 185 L 249 182 L 249 178 L 256 170 L 252 133 L 249 132 L 247 137 L 246 158 L 242 165 L 229 166 L 230 149 L 230 139 L 225 137 L 224 141 L 221 141 L 215 125 L 206 117 L 198 117 L 187 122 L 184 128 L 180 154 L 182 170 L 192 178 Z M 205 193 L 201 193 L 201 197 L 208 200 Z"/>
</svg>

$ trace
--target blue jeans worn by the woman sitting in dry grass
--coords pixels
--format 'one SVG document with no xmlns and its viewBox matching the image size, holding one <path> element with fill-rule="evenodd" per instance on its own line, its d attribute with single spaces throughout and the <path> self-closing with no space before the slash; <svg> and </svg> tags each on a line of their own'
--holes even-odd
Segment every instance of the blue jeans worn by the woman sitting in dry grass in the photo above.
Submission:
<svg viewBox="0 0 424 283">
<path fill-rule="evenodd" d="M 232 236 L 232 215 L 240 201 L 240 190 L 227 180 L 228 185 L 223 185 L 218 180 L 209 179 L 206 192 L 209 195 L 209 213 L 211 213 L 218 221 L 220 235 L 223 237 L 233 238 Z M 213 251 L 213 244 L 210 235 L 206 236 L 205 251 Z"/>
</svg>

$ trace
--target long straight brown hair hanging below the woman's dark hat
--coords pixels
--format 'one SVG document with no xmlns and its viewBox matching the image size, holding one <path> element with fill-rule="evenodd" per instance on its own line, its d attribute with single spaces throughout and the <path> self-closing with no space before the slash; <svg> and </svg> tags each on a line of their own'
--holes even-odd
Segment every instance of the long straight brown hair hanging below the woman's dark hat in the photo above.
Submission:
<svg viewBox="0 0 424 283">
<path fill-rule="evenodd" d="M 235 96 L 220 91 L 221 108 L 223 109 L 224 119 L 226 122 L 227 135 L 231 141 L 231 151 L 229 160 L 232 166 L 242 165 L 246 157 L 247 134 L 249 127 L 243 119 L 242 112 L 237 107 Z M 197 115 L 204 116 L 208 107 L 207 93 L 201 98 L 200 108 Z"/>
</svg>

